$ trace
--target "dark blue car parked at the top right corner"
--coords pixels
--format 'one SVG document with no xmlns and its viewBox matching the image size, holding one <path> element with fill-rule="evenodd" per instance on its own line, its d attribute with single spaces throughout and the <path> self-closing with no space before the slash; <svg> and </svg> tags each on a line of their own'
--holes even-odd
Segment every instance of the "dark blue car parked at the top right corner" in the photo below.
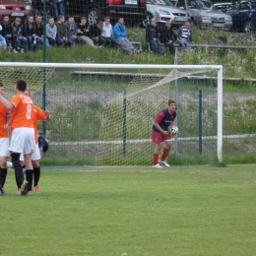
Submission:
<svg viewBox="0 0 256 256">
<path fill-rule="evenodd" d="M 232 17 L 232 31 L 253 32 L 256 30 L 255 1 L 236 2 L 227 10 L 227 14 Z"/>
</svg>

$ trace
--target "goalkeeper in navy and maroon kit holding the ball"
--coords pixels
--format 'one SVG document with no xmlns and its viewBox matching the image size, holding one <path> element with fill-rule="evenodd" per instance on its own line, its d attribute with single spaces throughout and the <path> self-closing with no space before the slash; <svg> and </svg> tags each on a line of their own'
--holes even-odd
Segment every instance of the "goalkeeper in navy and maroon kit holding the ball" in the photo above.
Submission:
<svg viewBox="0 0 256 256">
<path fill-rule="evenodd" d="M 153 167 L 161 168 L 162 166 L 160 164 L 169 167 L 169 164 L 166 162 L 169 150 L 171 149 L 171 134 L 169 132 L 169 127 L 174 126 L 176 115 L 176 102 L 173 99 L 169 99 L 168 107 L 160 110 L 154 120 L 152 126 L 152 142 L 156 144 L 156 147 L 154 151 Z M 165 147 L 159 160 L 161 143 L 163 141 L 165 142 Z"/>
</svg>

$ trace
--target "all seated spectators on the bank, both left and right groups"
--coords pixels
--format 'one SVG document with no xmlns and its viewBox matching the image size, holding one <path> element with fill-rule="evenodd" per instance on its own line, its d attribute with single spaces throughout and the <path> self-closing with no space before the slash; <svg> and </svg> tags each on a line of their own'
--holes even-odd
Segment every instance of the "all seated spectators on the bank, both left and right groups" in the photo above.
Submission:
<svg viewBox="0 0 256 256">
<path fill-rule="evenodd" d="M 36 51 L 39 44 L 44 44 L 46 48 L 61 45 L 70 47 L 74 44 L 113 47 L 116 44 L 129 54 L 140 53 L 126 36 L 123 18 L 119 18 L 112 28 L 109 17 L 105 17 L 104 22 L 92 26 L 88 26 L 85 17 L 79 24 L 75 23 L 74 17 L 69 17 L 66 22 L 63 15 L 59 15 L 56 22 L 50 17 L 45 26 L 45 38 L 41 16 L 37 16 L 35 21 L 33 16 L 29 16 L 23 24 L 21 18 L 16 18 L 13 23 L 9 19 L 9 16 L 5 16 L 0 23 L 0 42 L 2 49 L 9 47 L 13 53 Z M 170 54 L 173 54 L 173 43 L 176 40 L 185 50 L 193 43 L 189 23 L 185 23 L 177 34 L 173 32 L 170 21 L 165 23 L 164 28 L 160 28 L 155 18 L 146 28 L 146 41 L 158 54 L 164 54 L 162 44 L 169 48 Z"/>
</svg>

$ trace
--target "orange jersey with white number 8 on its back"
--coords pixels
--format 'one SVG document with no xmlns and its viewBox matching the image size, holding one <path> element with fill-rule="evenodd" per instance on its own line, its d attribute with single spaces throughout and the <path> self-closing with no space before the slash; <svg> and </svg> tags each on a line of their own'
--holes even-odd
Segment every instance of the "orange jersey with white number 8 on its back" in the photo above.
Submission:
<svg viewBox="0 0 256 256">
<path fill-rule="evenodd" d="M 32 98 L 25 94 L 19 94 L 12 98 L 11 102 L 14 105 L 12 110 L 11 128 L 29 127 L 33 128 L 32 122 Z"/>
</svg>

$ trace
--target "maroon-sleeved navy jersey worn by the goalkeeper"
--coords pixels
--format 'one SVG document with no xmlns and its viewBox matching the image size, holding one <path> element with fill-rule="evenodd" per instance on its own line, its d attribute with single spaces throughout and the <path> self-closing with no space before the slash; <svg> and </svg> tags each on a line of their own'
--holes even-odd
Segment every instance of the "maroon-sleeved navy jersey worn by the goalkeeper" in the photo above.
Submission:
<svg viewBox="0 0 256 256">
<path fill-rule="evenodd" d="M 160 128 L 163 131 L 167 131 L 169 125 L 174 121 L 177 113 L 176 111 L 173 111 L 171 114 L 168 112 L 168 108 L 160 110 L 158 116 L 155 118 L 154 122 L 158 123 L 160 125 Z M 155 125 L 152 126 L 152 129 L 156 132 L 160 131 L 155 127 Z"/>
</svg>

